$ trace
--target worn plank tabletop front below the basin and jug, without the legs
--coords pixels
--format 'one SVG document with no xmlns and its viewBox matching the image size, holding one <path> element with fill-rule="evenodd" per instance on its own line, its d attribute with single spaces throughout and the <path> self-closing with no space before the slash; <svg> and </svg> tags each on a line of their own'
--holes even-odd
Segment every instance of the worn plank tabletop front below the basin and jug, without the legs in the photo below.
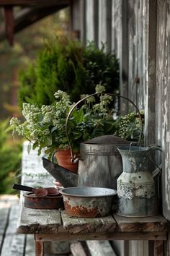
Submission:
<svg viewBox="0 0 170 256">
<path fill-rule="evenodd" d="M 17 232 L 51 234 L 58 239 L 126 239 L 166 240 L 167 221 L 161 215 L 147 218 L 106 216 L 76 218 L 64 210 L 41 210 L 20 207 Z M 39 236 L 39 237 L 40 237 Z"/>
</svg>

